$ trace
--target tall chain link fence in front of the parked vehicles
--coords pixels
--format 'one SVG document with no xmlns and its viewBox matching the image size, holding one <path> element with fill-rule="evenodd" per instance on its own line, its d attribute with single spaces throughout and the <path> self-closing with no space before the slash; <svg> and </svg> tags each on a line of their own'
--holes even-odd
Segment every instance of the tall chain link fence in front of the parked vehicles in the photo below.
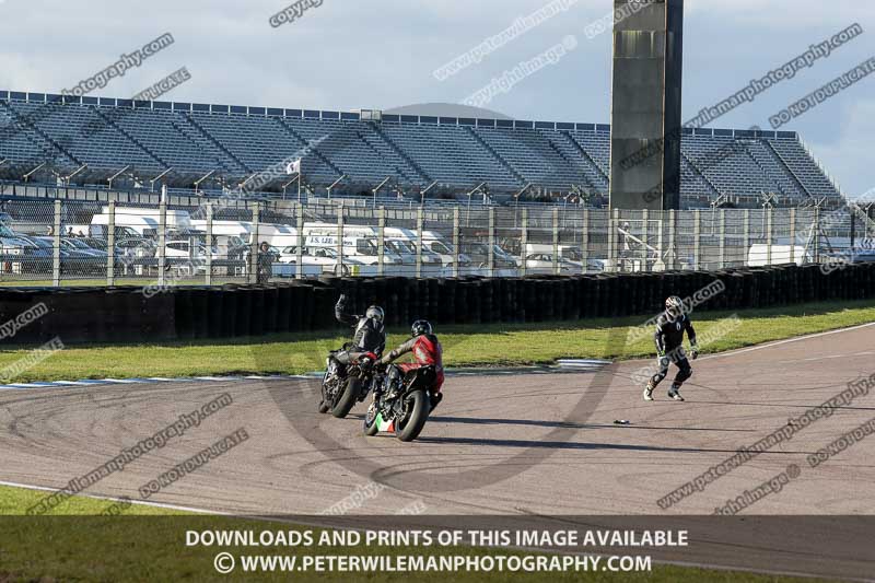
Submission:
<svg viewBox="0 0 875 583">
<path fill-rule="evenodd" d="M 145 206 L 7 200 L 0 284 L 219 285 L 325 276 L 454 278 L 861 261 L 858 208 L 619 211 L 374 208 L 339 201 Z"/>
</svg>

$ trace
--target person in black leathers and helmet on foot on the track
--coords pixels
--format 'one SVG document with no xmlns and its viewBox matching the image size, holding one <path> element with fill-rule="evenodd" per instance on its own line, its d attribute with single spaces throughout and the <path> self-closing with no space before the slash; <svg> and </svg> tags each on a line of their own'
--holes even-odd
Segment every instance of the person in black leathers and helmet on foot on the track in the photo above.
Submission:
<svg viewBox="0 0 875 583">
<path fill-rule="evenodd" d="M 656 333 L 653 335 L 653 339 L 656 343 L 660 371 L 648 382 L 648 386 L 644 388 L 644 400 L 653 400 L 653 389 L 666 377 L 668 365 L 672 362 L 678 368 L 678 373 L 668 390 L 668 397 L 674 400 L 684 400 L 684 397 L 680 396 L 680 387 L 692 376 L 692 368 L 684 351 L 684 333 L 690 339 L 690 355 L 692 360 L 696 360 L 699 357 L 696 330 L 689 315 L 684 310 L 684 302 L 677 295 L 673 295 L 665 301 L 665 312 L 656 318 Z"/>
</svg>

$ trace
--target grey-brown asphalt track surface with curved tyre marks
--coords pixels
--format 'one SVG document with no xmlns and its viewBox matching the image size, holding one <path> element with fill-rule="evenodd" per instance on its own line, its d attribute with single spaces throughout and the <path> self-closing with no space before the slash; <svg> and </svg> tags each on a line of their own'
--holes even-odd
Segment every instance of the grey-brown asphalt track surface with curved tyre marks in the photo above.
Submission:
<svg viewBox="0 0 875 583">
<path fill-rule="evenodd" d="M 353 512 L 368 515 L 711 514 L 796 464 L 797 479 L 743 514 L 866 515 L 875 513 L 875 435 L 818 468 L 806 458 L 875 418 L 875 394 L 668 510 L 656 501 L 875 373 L 873 355 L 875 326 L 703 357 L 687 403 L 667 399 L 670 376 L 644 403 L 630 381 L 644 361 L 456 376 L 415 443 L 363 436 L 364 405 L 343 420 L 317 413 L 317 381 L 0 390 L 0 480 L 61 488 L 230 393 L 232 405 L 86 493 L 138 499 L 142 485 L 244 428 L 248 441 L 150 501 L 247 515 L 313 515 L 353 498 Z"/>
</svg>

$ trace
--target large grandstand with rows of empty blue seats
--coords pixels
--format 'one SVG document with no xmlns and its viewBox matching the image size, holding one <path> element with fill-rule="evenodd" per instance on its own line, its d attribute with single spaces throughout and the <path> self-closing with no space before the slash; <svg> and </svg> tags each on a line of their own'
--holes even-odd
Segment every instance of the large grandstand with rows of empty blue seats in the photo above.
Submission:
<svg viewBox="0 0 875 583">
<path fill-rule="evenodd" d="M 327 112 L 0 91 L 0 177 L 95 185 L 235 187 L 302 154 L 303 184 L 370 191 L 389 178 L 408 196 L 435 185 L 463 195 L 486 183 L 495 201 L 526 190 L 561 197 L 608 191 L 610 126 Z M 310 147 L 312 142 L 318 142 Z M 743 148 L 730 155 L 721 149 Z M 755 207 L 840 200 L 795 132 L 685 128 L 681 201 Z M 279 176 L 265 190 L 288 182 Z M 117 183 L 118 184 L 118 183 Z"/>
</svg>

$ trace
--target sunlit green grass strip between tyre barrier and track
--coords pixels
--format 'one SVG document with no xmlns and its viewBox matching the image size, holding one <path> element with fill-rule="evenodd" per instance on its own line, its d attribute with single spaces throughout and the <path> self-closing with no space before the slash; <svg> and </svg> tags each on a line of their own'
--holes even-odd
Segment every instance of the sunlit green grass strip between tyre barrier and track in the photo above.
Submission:
<svg viewBox="0 0 875 583">
<path fill-rule="evenodd" d="M 733 313 L 699 313 L 700 336 Z M 742 326 L 703 352 L 719 352 L 771 340 L 875 322 L 875 303 L 836 302 L 742 312 Z M 560 358 L 631 359 L 654 353 L 650 334 L 626 342 L 629 326 L 645 317 L 569 323 L 447 326 L 438 329 L 448 366 L 499 366 L 552 363 Z M 14 382 L 102 377 L 222 374 L 301 374 L 324 366 L 325 354 L 345 340 L 340 333 L 277 335 L 163 345 L 70 346 L 27 370 Z M 405 340 L 394 334 L 390 345 Z M 0 353 L 0 369 L 33 347 Z"/>
</svg>

